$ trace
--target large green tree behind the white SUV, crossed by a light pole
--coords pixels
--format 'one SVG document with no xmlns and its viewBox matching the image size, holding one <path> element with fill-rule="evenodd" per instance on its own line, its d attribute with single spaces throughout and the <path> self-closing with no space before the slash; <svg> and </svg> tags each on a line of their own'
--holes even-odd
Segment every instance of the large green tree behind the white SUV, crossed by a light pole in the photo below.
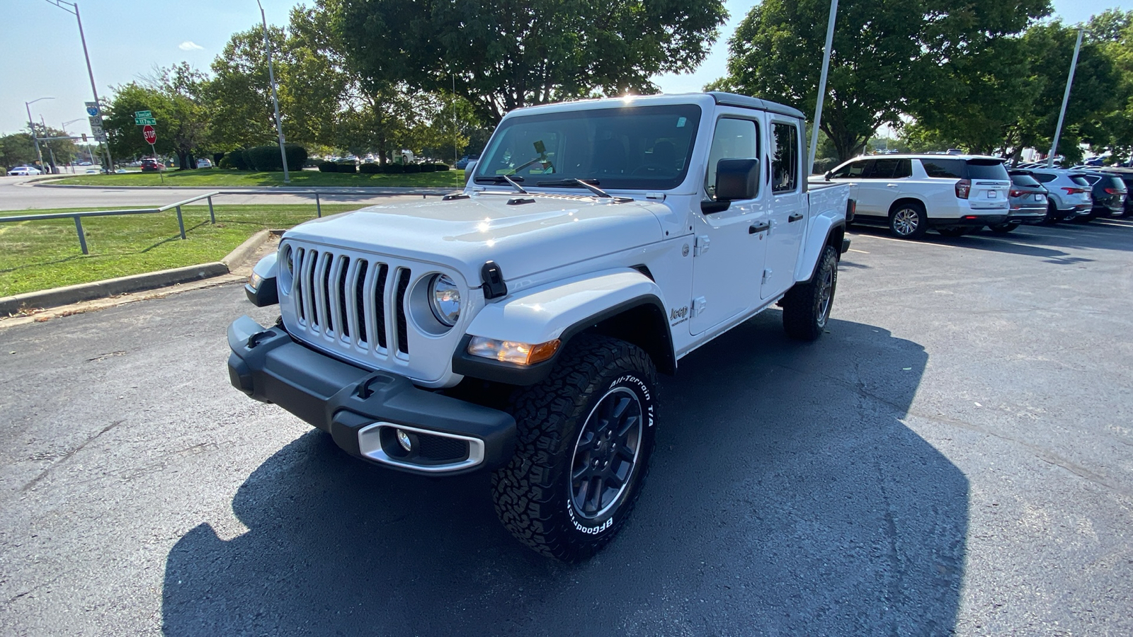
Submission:
<svg viewBox="0 0 1133 637">
<path fill-rule="evenodd" d="M 1048 12 L 1049 0 L 840 3 L 820 122 L 838 159 L 860 153 L 883 124 L 900 126 L 902 113 L 960 101 L 970 79 L 962 67 L 948 65 L 970 65 L 968 56 L 988 52 Z M 817 99 L 828 14 L 826 0 L 765 0 L 736 28 L 729 74 L 712 87 L 809 109 Z"/>
</svg>

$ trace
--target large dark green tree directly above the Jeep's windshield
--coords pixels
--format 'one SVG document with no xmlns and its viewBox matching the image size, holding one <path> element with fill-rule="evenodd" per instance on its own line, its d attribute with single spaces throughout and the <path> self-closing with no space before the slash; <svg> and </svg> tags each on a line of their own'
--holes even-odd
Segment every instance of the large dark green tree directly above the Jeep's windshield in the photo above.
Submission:
<svg viewBox="0 0 1133 637">
<path fill-rule="evenodd" d="M 325 0 L 365 83 L 453 90 L 495 124 L 557 100 L 653 93 L 692 70 L 727 12 L 721 0 Z"/>
</svg>

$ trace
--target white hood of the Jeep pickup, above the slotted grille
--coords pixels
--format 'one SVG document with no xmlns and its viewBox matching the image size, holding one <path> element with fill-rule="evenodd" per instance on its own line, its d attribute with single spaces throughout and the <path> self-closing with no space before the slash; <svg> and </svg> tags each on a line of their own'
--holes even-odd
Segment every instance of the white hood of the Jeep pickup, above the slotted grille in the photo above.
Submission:
<svg viewBox="0 0 1133 637">
<path fill-rule="evenodd" d="M 496 262 L 504 280 L 513 281 L 659 241 L 657 214 L 665 210 L 659 203 L 579 195 L 472 194 L 364 207 L 308 221 L 283 237 L 435 263 L 478 286 L 485 261 Z"/>
</svg>

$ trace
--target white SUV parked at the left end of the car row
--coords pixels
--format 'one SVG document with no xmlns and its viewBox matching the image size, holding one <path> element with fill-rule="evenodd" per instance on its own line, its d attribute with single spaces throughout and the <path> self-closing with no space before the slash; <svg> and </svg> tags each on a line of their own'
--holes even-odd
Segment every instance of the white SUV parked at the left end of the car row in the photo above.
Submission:
<svg viewBox="0 0 1133 637">
<path fill-rule="evenodd" d="M 1003 223 L 1010 214 L 1011 177 L 999 158 L 880 155 L 852 159 L 825 176 L 850 184 L 854 221 L 886 223 L 915 239 L 931 227 L 949 237 Z"/>
</svg>

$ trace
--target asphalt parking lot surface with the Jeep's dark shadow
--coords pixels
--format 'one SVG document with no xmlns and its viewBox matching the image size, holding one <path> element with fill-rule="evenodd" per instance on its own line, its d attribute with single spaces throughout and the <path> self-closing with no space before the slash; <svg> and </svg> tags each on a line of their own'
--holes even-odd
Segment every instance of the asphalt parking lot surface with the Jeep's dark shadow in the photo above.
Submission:
<svg viewBox="0 0 1133 637">
<path fill-rule="evenodd" d="M 1133 223 L 855 229 L 829 333 L 663 380 L 581 566 L 486 476 L 352 460 L 228 383 L 235 284 L 5 328 L 5 635 L 1131 635 Z"/>
</svg>

